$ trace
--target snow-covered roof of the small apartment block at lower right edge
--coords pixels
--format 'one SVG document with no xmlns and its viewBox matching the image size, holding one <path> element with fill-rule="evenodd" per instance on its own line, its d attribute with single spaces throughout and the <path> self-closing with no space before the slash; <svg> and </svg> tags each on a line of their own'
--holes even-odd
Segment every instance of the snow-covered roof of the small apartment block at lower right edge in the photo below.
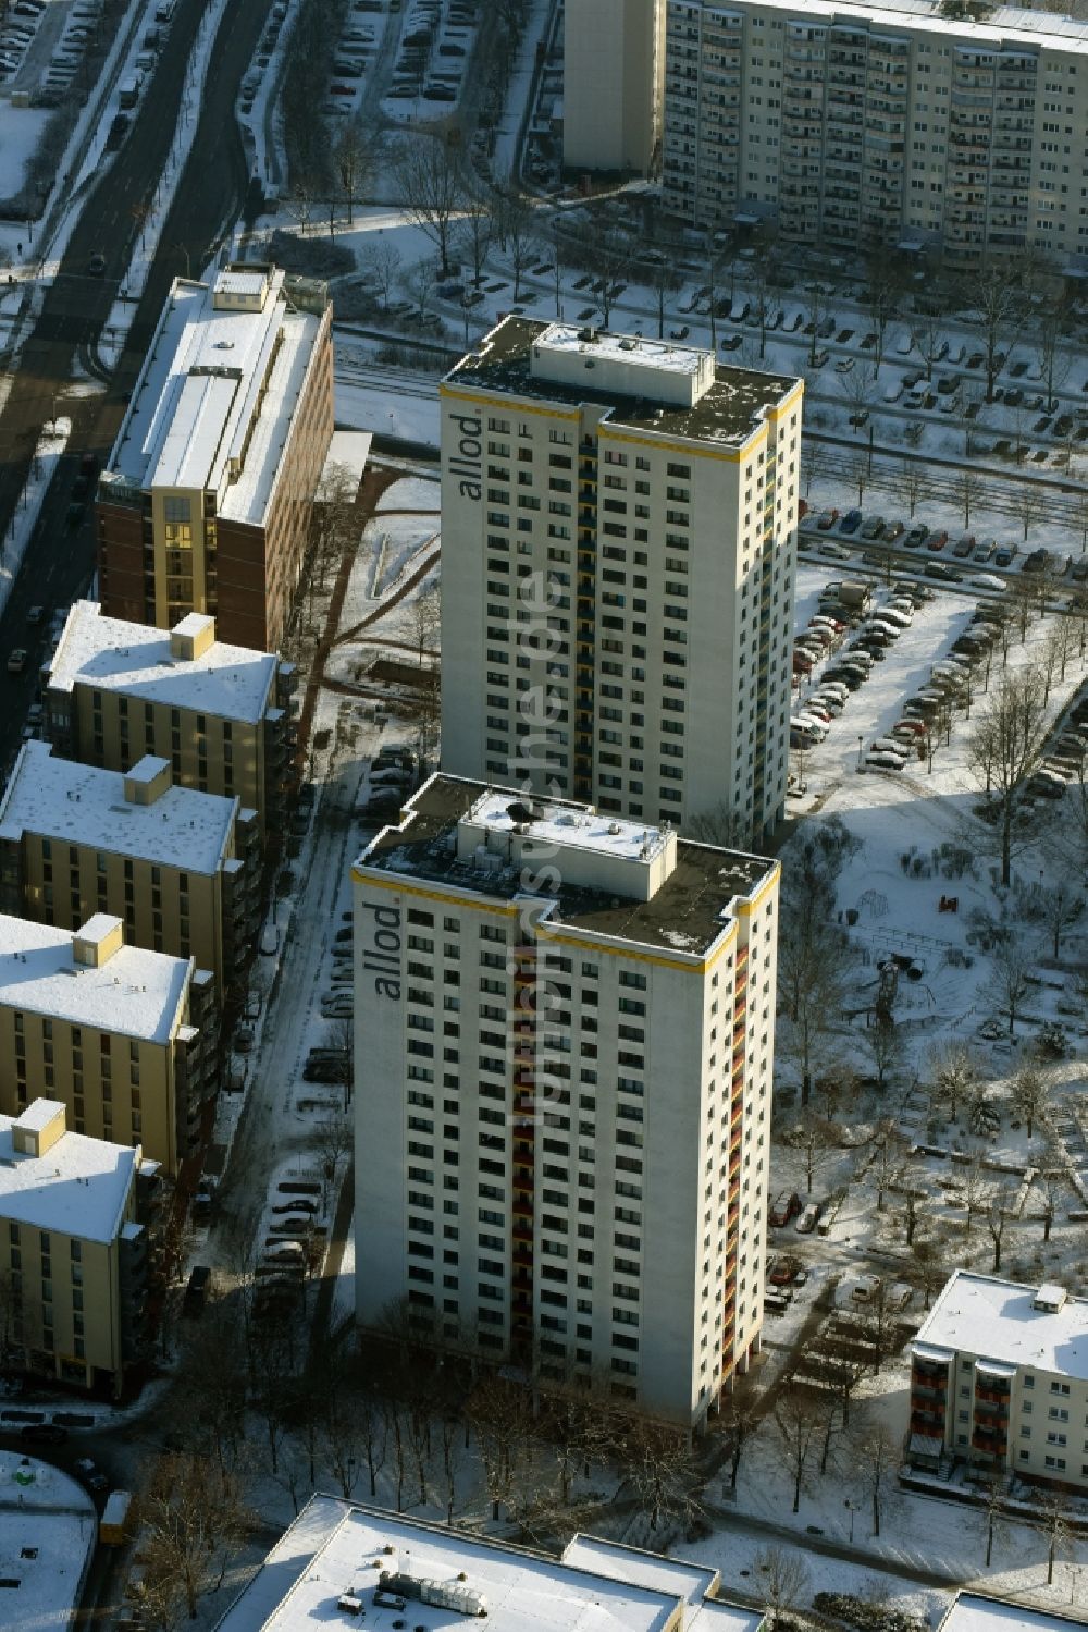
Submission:
<svg viewBox="0 0 1088 1632">
<path fill-rule="evenodd" d="M 1041 1309 L 1039 1288 L 956 1270 L 918 1330 L 920 1346 L 1088 1381 L 1088 1299 Z"/>
</svg>

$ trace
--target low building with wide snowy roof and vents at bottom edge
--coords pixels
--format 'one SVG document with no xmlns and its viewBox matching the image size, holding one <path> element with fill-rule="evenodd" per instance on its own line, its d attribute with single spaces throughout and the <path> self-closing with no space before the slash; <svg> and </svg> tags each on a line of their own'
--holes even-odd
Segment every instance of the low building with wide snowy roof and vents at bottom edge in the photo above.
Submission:
<svg viewBox="0 0 1088 1632">
<path fill-rule="evenodd" d="M 398 1608 L 400 1599 L 400 1608 Z M 405 1611 L 408 1604 L 408 1611 Z M 396 1632 L 762 1632 L 718 1570 L 574 1536 L 563 1557 L 483 1541 L 360 1501 L 315 1495 L 217 1621 L 215 1632 L 308 1632 L 362 1621 Z M 365 1619 L 364 1619 L 365 1617 Z"/>
</svg>

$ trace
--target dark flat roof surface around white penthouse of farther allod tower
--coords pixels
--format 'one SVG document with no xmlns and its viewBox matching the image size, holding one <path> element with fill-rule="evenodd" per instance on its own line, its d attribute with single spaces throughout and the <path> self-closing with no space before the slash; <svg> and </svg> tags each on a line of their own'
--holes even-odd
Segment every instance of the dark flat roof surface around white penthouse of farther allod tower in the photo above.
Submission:
<svg viewBox="0 0 1088 1632">
<path fill-rule="evenodd" d="M 644 397 L 621 397 L 615 390 L 594 390 L 590 385 L 563 385 L 532 374 L 532 349 L 551 323 L 525 317 L 507 317 L 480 341 L 476 351 L 462 357 L 442 380 L 442 387 L 455 392 L 463 387 L 471 392 L 496 392 L 501 397 L 525 397 L 533 401 L 577 408 L 581 403 L 605 403 L 602 426 L 636 429 L 639 434 L 659 434 L 666 439 L 687 437 L 695 442 L 718 442 L 741 447 L 767 418 L 768 408 L 785 401 L 799 380 L 786 374 L 762 374 L 755 369 L 734 369 L 718 364 L 714 384 L 698 401 L 687 406 L 656 401 Z M 617 336 L 599 331 L 597 344 L 610 348 Z M 657 346 L 656 341 L 646 341 Z M 690 348 L 677 348 L 683 359 L 697 356 Z M 692 366 L 692 364 L 685 364 Z M 648 375 L 651 370 L 648 370 Z"/>
</svg>

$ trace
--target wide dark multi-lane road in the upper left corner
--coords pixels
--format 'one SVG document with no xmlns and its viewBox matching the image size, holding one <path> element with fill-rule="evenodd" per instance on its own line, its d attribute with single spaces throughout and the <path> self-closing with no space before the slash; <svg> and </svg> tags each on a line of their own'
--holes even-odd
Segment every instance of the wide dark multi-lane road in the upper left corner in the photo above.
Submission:
<svg viewBox="0 0 1088 1632">
<path fill-rule="evenodd" d="M 41 426 L 54 405 L 73 421 L 70 449 L 51 486 L 42 519 L 28 552 L 28 565 L 0 620 L 0 656 L 13 646 L 41 651 L 41 632 L 26 627 L 31 604 L 54 607 L 85 592 L 95 566 L 90 512 L 83 526 L 64 524 L 78 455 L 103 459 L 113 446 L 158 312 L 175 276 L 184 273 L 184 246 L 192 271 L 204 263 L 246 202 L 248 176 L 233 119 L 238 85 L 253 57 L 271 0 L 232 0 L 201 86 L 201 114 L 192 153 L 181 173 L 165 222 L 160 251 L 140 299 L 129 343 L 111 390 L 65 398 L 77 356 L 93 353 L 139 232 L 139 211 L 153 194 L 170 152 L 192 39 L 204 0 L 179 0 L 170 51 L 132 121 L 129 139 L 86 197 L 69 238 L 59 276 L 47 289 L 41 315 L 28 336 L 11 393 L 0 411 L 0 530 L 7 527 L 29 467 Z M 135 211 L 135 214 L 134 214 Z M 106 256 L 103 277 L 86 271 L 91 255 Z M 36 685 L 34 664 L 21 677 L 0 666 L 0 765 L 15 757 L 26 705 Z"/>
</svg>

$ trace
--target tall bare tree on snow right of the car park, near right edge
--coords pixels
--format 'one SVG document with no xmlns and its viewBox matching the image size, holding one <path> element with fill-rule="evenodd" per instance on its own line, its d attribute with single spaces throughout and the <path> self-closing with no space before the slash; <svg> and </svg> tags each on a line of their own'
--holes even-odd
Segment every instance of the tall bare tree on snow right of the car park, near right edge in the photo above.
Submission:
<svg viewBox="0 0 1088 1632">
<path fill-rule="evenodd" d="M 1046 702 L 1034 669 L 1002 674 L 975 715 L 967 738 L 967 767 L 985 792 L 1002 858 L 1002 883 L 1011 883 L 1013 847 L 1021 829 L 1024 787 L 1042 764 Z"/>
</svg>

